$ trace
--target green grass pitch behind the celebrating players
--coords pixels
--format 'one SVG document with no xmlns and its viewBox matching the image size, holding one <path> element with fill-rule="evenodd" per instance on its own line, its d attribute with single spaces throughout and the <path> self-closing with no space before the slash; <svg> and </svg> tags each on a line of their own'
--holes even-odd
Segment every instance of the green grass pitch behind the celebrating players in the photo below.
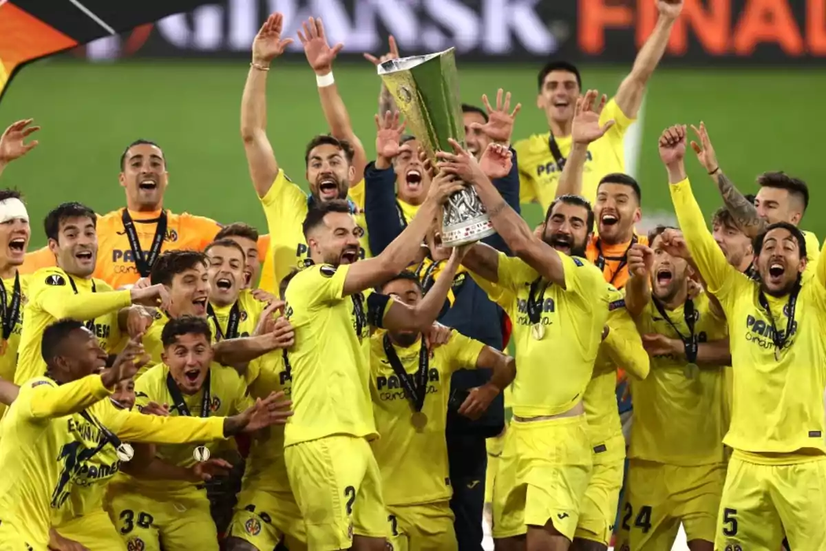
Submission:
<svg viewBox="0 0 826 551">
<path fill-rule="evenodd" d="M 276 62 L 268 80 L 268 135 L 278 161 L 303 182 L 307 140 L 326 126 L 315 78 L 301 59 Z M 170 185 L 166 206 L 218 221 L 248 221 L 263 229 L 239 136 L 239 105 L 248 65 L 235 62 L 121 62 L 85 64 L 46 59 L 21 71 L 0 102 L 0 126 L 34 117 L 43 126 L 40 146 L 12 164 L 2 185 L 21 189 L 33 221 L 32 245 L 45 242 L 40 221 L 63 201 L 85 202 L 98 212 L 124 204 L 118 159 L 137 138 L 164 148 Z M 509 89 L 523 109 L 515 139 L 546 129 L 534 106 L 535 65 L 462 64 L 462 98 L 481 104 L 482 93 Z M 625 66 L 586 66 L 584 84 L 614 93 Z M 366 62 L 335 67 L 336 82 L 355 129 L 372 154 L 379 78 Z M 671 124 L 704 120 L 720 162 L 744 191 L 757 173 L 783 169 L 804 178 L 813 207 L 803 227 L 826 236 L 819 216 L 826 176 L 826 112 L 819 90 L 826 74 L 814 70 L 659 69 L 648 88 L 638 178 L 643 212 L 672 211 L 657 136 Z M 689 174 L 706 214 L 719 205 L 714 184 L 689 153 Z M 539 207 L 525 208 L 537 221 Z"/>
</svg>

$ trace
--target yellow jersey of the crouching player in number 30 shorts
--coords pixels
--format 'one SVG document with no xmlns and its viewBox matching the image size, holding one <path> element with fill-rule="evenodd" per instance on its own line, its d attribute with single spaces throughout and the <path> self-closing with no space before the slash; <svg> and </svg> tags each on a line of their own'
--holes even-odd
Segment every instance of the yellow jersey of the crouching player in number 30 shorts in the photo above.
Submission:
<svg viewBox="0 0 826 551">
<path fill-rule="evenodd" d="M 253 401 L 247 395 L 247 385 L 244 379 L 233 368 L 226 368 L 219 363 L 212 363 L 209 368 L 209 379 L 204 382 L 204 387 L 200 392 L 192 395 L 182 394 L 192 418 L 204 417 L 227 417 L 234 416 L 253 405 Z M 159 363 L 143 377 L 135 382 L 135 406 L 143 407 L 150 401 L 159 404 L 169 404 L 169 416 L 182 416 L 174 405 L 175 400 L 167 387 L 169 377 L 169 367 L 164 363 Z M 202 401 L 204 391 L 209 383 L 209 412 L 202 415 Z M 219 448 L 220 443 L 204 444 L 211 454 Z M 167 444 L 159 445 L 156 449 L 156 457 L 164 463 L 177 465 L 178 467 L 189 468 L 196 463 L 193 455 L 195 447 L 192 444 Z M 145 478 L 132 477 L 129 474 L 121 473 L 116 478 L 118 492 L 138 492 L 142 495 L 163 495 L 173 496 L 186 494 L 195 489 L 193 482 L 173 482 L 169 480 L 147 480 Z"/>
</svg>

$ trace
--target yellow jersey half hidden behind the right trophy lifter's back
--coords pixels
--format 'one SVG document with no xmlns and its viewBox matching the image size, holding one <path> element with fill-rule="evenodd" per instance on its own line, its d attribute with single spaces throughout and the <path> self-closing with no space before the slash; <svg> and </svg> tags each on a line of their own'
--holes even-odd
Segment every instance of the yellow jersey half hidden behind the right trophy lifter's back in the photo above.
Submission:
<svg viewBox="0 0 826 551">
<path fill-rule="evenodd" d="M 608 335 L 600 344 L 594 373 L 582 398 L 592 448 L 622 434 L 616 399 L 617 368 L 633 373 L 634 378 L 647 377 L 650 368 L 634 320 L 625 310 L 623 293 L 611 286 L 609 292 Z M 624 449 L 619 451 L 624 455 Z"/>
</svg>

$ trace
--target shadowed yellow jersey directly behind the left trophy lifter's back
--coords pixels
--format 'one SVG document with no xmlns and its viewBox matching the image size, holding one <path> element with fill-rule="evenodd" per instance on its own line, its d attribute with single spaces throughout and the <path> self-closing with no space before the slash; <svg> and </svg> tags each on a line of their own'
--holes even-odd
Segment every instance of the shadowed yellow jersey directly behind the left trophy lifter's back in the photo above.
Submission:
<svg viewBox="0 0 826 551">
<path fill-rule="evenodd" d="M 287 363 L 289 361 L 287 355 Z M 287 399 L 292 397 L 292 368 L 287 369 L 282 350 L 264 354 L 250 362 L 245 379 L 249 395 L 253 398 L 265 398 L 271 392 L 282 391 Z M 283 425 L 270 425 L 253 435 L 243 486 L 258 492 L 292 492 L 284 463 Z"/>
</svg>

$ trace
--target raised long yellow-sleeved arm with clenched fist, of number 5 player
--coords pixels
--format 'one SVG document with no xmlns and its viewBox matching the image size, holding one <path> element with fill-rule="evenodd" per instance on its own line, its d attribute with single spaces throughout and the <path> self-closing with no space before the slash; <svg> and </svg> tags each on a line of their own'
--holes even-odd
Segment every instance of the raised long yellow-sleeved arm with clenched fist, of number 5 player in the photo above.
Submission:
<svg viewBox="0 0 826 551">
<path fill-rule="evenodd" d="M 685 235 L 686 245 L 708 290 L 718 294 L 724 284 L 730 281 L 732 272 L 737 273 L 737 269 L 729 265 L 723 251 L 714 241 L 714 236 L 705 226 L 703 212 L 691 192 L 684 163 L 686 126 L 672 126 L 663 131 L 659 140 L 659 152 L 660 159 L 666 166 L 676 219 Z"/>
</svg>

